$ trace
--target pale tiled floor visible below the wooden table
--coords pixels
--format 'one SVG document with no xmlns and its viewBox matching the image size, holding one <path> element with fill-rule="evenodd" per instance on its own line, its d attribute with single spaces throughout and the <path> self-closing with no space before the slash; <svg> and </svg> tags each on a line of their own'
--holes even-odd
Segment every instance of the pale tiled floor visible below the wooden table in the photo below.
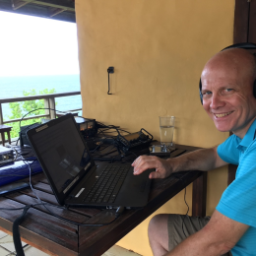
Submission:
<svg viewBox="0 0 256 256">
<path fill-rule="evenodd" d="M 48 256 L 48 254 L 35 249 L 29 244 L 23 242 L 24 252 L 26 256 Z M 13 237 L 0 230 L 0 256 L 16 255 L 13 244 Z M 120 246 L 114 245 L 102 256 L 141 256 L 135 252 L 126 250 Z"/>
</svg>

